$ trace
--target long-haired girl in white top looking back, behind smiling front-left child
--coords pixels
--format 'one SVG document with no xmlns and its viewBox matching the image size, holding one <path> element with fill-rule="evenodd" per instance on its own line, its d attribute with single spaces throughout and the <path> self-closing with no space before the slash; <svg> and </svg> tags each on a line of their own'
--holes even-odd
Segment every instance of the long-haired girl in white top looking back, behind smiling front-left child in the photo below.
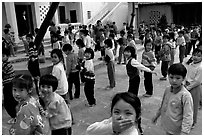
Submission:
<svg viewBox="0 0 204 137">
<path fill-rule="evenodd" d="M 68 82 L 65 73 L 64 57 L 62 51 L 60 49 L 53 49 L 51 52 L 51 58 L 53 63 L 52 75 L 55 76 L 58 80 L 58 87 L 55 92 L 61 95 L 68 104 Z"/>
</svg>

